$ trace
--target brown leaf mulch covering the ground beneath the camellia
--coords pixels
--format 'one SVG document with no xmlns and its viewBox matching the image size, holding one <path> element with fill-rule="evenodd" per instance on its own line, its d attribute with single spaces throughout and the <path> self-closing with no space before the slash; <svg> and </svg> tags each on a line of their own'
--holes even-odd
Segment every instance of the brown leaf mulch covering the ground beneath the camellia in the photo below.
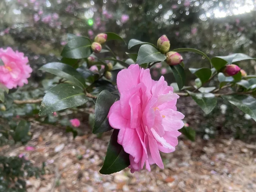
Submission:
<svg viewBox="0 0 256 192">
<path fill-rule="evenodd" d="M 151 172 L 131 174 L 125 169 L 101 175 L 109 133 L 97 138 L 88 129 L 86 135 L 73 139 L 63 129 L 36 122 L 32 130 L 27 145 L 34 151 L 25 151 L 24 146 L 2 148 L 10 156 L 24 153 L 35 165 L 47 163 L 45 175 L 27 180 L 28 192 L 256 191 L 256 144 L 221 138 L 190 142 L 181 137 L 175 152 L 162 154 L 164 170 L 152 166 Z"/>
</svg>

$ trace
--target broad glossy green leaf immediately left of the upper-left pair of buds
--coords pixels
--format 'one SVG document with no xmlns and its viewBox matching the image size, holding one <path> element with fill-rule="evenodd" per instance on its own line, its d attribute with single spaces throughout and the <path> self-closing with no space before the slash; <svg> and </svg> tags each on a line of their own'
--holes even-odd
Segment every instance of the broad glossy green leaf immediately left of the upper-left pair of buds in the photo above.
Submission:
<svg viewBox="0 0 256 192">
<path fill-rule="evenodd" d="M 71 39 L 61 52 L 62 57 L 72 59 L 87 58 L 92 54 L 91 41 L 86 37 Z"/>
</svg>

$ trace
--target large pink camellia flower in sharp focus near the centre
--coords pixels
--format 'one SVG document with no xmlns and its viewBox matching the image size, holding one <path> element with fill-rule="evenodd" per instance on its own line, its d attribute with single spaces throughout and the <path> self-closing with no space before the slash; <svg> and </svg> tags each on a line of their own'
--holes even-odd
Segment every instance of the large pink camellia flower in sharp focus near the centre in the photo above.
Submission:
<svg viewBox="0 0 256 192">
<path fill-rule="evenodd" d="M 130 65 L 117 75 L 120 100 L 108 113 L 109 124 L 119 129 L 117 142 L 129 154 L 131 172 L 146 164 L 164 168 L 159 151 L 170 153 L 178 144 L 178 129 L 184 126 L 184 115 L 177 111 L 179 96 L 173 93 L 162 76 L 151 79 L 149 69 Z"/>
</svg>

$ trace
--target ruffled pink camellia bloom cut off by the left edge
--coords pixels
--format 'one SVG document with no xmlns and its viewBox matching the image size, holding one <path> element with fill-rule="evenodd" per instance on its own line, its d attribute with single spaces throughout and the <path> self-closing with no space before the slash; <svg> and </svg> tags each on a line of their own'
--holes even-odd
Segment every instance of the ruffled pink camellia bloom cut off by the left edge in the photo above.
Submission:
<svg viewBox="0 0 256 192">
<path fill-rule="evenodd" d="M 8 89 L 22 87 L 28 84 L 28 78 L 32 69 L 28 63 L 28 58 L 22 52 L 14 52 L 12 48 L 0 49 L 0 59 L 4 65 L 0 66 L 0 83 Z"/>
</svg>

